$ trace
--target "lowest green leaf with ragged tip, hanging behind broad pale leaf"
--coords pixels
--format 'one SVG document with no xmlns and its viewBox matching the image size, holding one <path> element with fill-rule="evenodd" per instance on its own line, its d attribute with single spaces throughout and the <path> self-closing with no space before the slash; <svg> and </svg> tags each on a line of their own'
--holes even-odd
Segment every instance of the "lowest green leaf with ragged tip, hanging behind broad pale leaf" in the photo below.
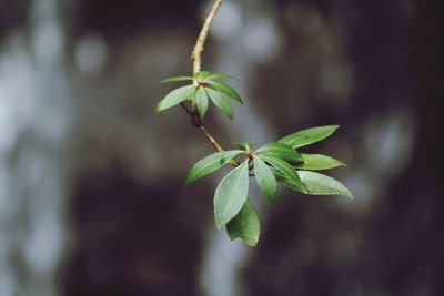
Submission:
<svg viewBox="0 0 444 296">
<path fill-rule="evenodd" d="M 246 200 L 241 212 L 226 224 L 226 232 L 231 238 L 241 238 L 248 246 L 256 246 L 261 235 L 261 223 L 254 205 Z"/>
</svg>

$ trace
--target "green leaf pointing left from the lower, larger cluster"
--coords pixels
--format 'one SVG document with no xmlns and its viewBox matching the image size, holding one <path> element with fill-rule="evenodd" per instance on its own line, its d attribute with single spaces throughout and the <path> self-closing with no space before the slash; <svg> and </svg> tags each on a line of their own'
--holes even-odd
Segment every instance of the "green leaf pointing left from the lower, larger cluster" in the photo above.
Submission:
<svg viewBox="0 0 444 296">
<path fill-rule="evenodd" d="M 212 172 L 221 169 L 223 165 L 229 163 L 234 156 L 242 153 L 240 150 L 230 150 L 223 152 L 216 152 L 200 160 L 196 164 L 191 167 L 185 178 L 185 185 L 189 185 Z"/>
</svg>

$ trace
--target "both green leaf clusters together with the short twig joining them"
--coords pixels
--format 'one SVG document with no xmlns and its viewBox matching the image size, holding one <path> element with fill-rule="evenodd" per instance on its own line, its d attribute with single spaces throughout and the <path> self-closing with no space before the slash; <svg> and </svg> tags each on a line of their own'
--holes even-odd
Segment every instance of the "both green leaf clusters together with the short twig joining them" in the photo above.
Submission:
<svg viewBox="0 0 444 296">
<path fill-rule="evenodd" d="M 232 102 L 243 103 L 240 94 L 226 83 L 232 79 L 225 73 L 201 71 L 192 76 L 173 76 L 167 82 L 188 82 L 168 93 L 157 106 L 161 112 L 185 101 L 191 102 L 186 111 L 196 120 L 194 125 L 203 127 L 210 101 L 229 119 L 233 119 Z M 184 105 L 183 105 L 184 106 Z M 214 193 L 214 220 L 218 229 L 226 226 L 231 239 L 241 238 L 244 244 L 255 246 L 261 234 L 260 220 L 249 196 L 251 177 L 266 198 L 276 203 L 278 184 L 310 195 L 343 195 L 353 198 L 350 191 L 331 176 L 319 173 L 345 165 L 334 157 L 323 154 L 300 153 L 300 149 L 320 142 L 332 135 L 339 125 L 325 125 L 289 134 L 275 142 L 254 149 L 256 143 L 234 142 L 235 150 L 222 151 L 199 161 L 189 172 L 185 184 L 209 175 L 226 164 L 231 170 L 219 183 Z M 205 133 L 208 136 L 208 134 Z M 214 139 L 208 136 L 214 144 Z"/>
</svg>

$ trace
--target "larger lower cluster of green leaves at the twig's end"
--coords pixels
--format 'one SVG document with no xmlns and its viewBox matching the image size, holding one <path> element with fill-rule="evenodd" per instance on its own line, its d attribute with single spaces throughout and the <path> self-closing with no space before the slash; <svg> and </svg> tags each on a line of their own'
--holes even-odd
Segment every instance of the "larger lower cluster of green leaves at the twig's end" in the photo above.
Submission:
<svg viewBox="0 0 444 296">
<path fill-rule="evenodd" d="M 250 177 L 268 200 L 274 204 L 278 183 L 311 195 L 343 195 L 353 198 L 351 192 L 339 181 L 314 171 L 345 165 L 322 154 L 300 153 L 297 149 L 330 136 L 339 125 L 326 125 L 302 130 L 253 150 L 254 143 L 234 143 L 238 150 L 213 153 L 199 161 L 189 172 L 185 184 L 221 169 L 235 157 L 236 165 L 219 183 L 214 193 L 214 220 L 216 227 L 226 226 L 231 239 L 241 238 L 244 244 L 255 246 L 261 227 L 256 210 L 249 197 Z"/>
</svg>

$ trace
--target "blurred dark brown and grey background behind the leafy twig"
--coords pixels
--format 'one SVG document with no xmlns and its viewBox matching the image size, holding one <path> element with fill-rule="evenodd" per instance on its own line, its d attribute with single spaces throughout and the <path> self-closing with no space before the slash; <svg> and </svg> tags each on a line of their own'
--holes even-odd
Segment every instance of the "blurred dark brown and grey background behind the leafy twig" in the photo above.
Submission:
<svg viewBox="0 0 444 296">
<path fill-rule="evenodd" d="M 245 98 L 224 146 L 341 124 L 355 195 L 252 186 L 256 248 L 215 229 L 211 145 L 175 108 L 211 1 L 0 0 L 0 295 L 444 295 L 444 2 L 226 0 L 203 54 Z"/>
</svg>

